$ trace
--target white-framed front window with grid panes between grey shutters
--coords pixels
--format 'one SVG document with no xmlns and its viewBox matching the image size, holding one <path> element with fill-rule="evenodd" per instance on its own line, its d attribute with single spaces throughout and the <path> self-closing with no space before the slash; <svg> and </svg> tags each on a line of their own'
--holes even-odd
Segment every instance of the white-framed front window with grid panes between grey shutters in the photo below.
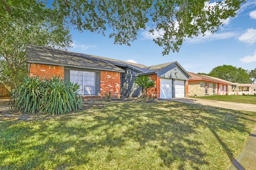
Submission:
<svg viewBox="0 0 256 170">
<path fill-rule="evenodd" d="M 70 82 L 80 86 L 82 96 L 95 95 L 95 72 L 70 70 Z"/>
</svg>

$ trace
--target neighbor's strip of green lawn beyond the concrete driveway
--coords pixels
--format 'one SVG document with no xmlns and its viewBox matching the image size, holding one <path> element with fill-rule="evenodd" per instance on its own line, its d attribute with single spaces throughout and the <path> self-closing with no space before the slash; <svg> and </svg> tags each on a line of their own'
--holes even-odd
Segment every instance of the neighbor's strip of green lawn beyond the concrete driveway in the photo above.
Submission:
<svg viewBox="0 0 256 170">
<path fill-rule="evenodd" d="M 224 102 L 236 102 L 236 103 L 247 103 L 247 104 L 256 104 L 256 97 L 254 95 L 248 96 L 222 96 L 222 95 L 213 95 L 213 96 L 200 96 L 200 97 L 191 97 L 191 98 L 202 98 L 209 100 L 218 100 Z"/>
</svg>

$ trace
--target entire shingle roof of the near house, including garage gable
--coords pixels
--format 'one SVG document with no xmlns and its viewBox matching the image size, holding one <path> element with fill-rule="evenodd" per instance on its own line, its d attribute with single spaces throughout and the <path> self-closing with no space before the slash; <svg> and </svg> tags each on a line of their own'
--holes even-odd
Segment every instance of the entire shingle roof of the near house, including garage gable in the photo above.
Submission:
<svg viewBox="0 0 256 170">
<path fill-rule="evenodd" d="M 28 63 L 51 65 L 63 63 L 64 66 L 97 70 L 109 70 L 116 72 L 124 72 L 123 69 L 118 67 L 124 66 L 138 71 L 139 73 L 136 74 L 137 76 L 158 73 L 159 71 L 164 70 L 173 64 L 178 64 L 178 62 L 175 61 L 170 63 L 158 64 L 154 66 L 146 66 L 143 64 L 130 63 L 127 61 L 110 59 L 95 55 L 75 53 L 59 49 L 52 49 L 48 47 L 40 47 L 36 45 L 27 46 L 26 58 Z M 189 74 L 184 70 L 184 68 L 182 68 L 181 66 L 180 68 L 189 77 Z"/>
</svg>

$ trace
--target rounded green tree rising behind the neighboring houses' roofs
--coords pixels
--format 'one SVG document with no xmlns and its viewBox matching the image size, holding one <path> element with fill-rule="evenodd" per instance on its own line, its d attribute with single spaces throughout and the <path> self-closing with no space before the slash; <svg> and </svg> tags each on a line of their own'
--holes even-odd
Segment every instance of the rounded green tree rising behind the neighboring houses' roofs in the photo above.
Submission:
<svg viewBox="0 0 256 170">
<path fill-rule="evenodd" d="M 231 65 L 217 66 L 213 68 L 208 76 L 221 78 L 230 82 L 250 83 L 248 72 L 242 68 L 236 68 Z"/>
</svg>

